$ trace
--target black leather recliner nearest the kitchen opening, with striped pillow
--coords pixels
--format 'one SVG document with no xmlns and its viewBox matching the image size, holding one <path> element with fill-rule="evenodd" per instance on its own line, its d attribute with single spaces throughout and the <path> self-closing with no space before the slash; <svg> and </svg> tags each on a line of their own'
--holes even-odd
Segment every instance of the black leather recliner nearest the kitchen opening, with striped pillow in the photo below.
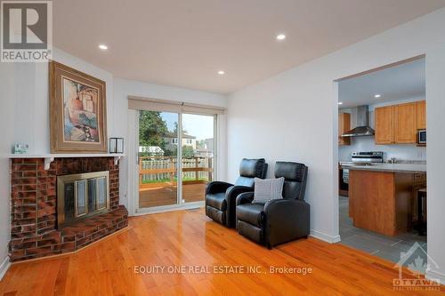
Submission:
<svg viewBox="0 0 445 296">
<path fill-rule="evenodd" d="M 236 209 L 239 234 L 269 249 L 307 237 L 310 232 L 310 207 L 304 202 L 307 173 L 304 164 L 277 162 L 275 178 L 285 178 L 283 199 L 255 204 L 253 192 L 240 194 Z"/>
</svg>

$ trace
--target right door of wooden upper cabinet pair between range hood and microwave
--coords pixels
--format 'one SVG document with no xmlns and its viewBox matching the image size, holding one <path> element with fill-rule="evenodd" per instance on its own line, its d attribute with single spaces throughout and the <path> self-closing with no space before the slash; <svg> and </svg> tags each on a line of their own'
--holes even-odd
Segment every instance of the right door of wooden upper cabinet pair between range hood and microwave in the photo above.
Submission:
<svg viewBox="0 0 445 296">
<path fill-rule="evenodd" d="M 417 102 L 397 105 L 394 109 L 396 143 L 414 144 L 417 140 Z"/>
</svg>

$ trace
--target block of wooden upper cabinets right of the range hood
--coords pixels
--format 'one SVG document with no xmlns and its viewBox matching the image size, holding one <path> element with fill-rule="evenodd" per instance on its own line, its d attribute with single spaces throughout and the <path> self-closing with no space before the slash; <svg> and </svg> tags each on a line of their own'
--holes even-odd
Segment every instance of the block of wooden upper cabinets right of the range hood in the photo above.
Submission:
<svg viewBox="0 0 445 296">
<path fill-rule="evenodd" d="M 376 144 L 415 144 L 426 128 L 425 100 L 376 108 L 375 119 Z"/>
</svg>

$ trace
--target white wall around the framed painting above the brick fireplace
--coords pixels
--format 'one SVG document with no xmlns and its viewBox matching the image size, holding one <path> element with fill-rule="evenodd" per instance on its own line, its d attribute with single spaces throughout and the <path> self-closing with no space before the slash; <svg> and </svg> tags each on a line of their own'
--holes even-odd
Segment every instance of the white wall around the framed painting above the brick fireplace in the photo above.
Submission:
<svg viewBox="0 0 445 296">
<path fill-rule="evenodd" d="M 113 76 L 66 52 L 53 49 L 53 60 L 107 83 L 108 132 L 113 133 Z M 0 63 L 0 276 L 10 239 L 10 172 L 13 143 L 28 143 L 30 154 L 50 153 L 47 63 Z"/>
</svg>

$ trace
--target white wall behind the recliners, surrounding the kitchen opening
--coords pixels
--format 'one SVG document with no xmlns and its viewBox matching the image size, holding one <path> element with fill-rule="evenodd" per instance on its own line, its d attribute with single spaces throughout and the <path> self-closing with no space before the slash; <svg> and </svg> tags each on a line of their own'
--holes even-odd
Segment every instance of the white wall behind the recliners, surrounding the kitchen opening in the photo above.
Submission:
<svg viewBox="0 0 445 296">
<path fill-rule="evenodd" d="M 228 114 L 228 177 L 242 157 L 299 161 L 309 165 L 306 199 L 312 234 L 338 239 L 336 79 L 426 54 L 428 114 L 428 252 L 439 264 L 428 276 L 445 281 L 445 9 L 392 28 L 231 95 Z"/>
</svg>

